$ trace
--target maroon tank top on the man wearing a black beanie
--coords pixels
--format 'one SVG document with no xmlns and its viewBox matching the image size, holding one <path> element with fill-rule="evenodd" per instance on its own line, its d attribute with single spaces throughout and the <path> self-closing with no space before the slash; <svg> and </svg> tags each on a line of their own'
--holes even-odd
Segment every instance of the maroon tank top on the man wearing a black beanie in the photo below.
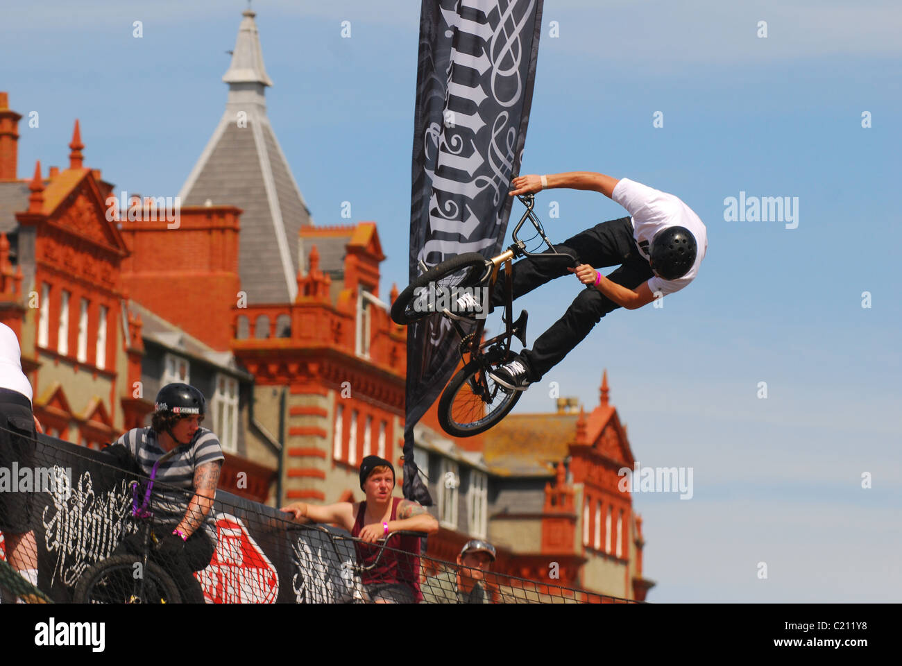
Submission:
<svg viewBox="0 0 902 666">
<path fill-rule="evenodd" d="M 391 518 L 389 520 L 398 520 L 398 504 L 400 497 L 392 497 L 391 499 Z M 354 529 L 351 530 L 351 536 L 359 537 L 360 532 L 364 529 L 364 515 L 366 515 L 366 502 L 360 503 L 357 510 L 357 519 L 354 521 Z M 354 550 L 357 551 L 357 564 L 367 567 L 373 564 L 379 555 L 379 549 L 382 544 L 370 544 L 354 541 Z M 389 549 L 395 550 L 389 550 Z M 404 552 L 396 552 L 396 550 L 404 550 Z M 411 553 L 408 555 L 408 553 Z M 382 557 L 376 562 L 373 569 L 364 571 L 361 580 L 364 585 L 387 585 L 389 583 L 401 583 L 410 587 L 414 591 L 417 603 L 423 600 L 423 596 L 419 591 L 419 537 L 401 536 L 395 534 L 386 544 L 385 550 L 382 551 Z"/>
</svg>

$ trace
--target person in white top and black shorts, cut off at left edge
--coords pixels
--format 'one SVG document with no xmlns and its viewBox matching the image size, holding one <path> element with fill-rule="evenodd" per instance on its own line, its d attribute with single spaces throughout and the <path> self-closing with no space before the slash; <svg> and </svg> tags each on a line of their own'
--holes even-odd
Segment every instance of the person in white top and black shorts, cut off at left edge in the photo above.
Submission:
<svg viewBox="0 0 902 666">
<path fill-rule="evenodd" d="M 22 350 L 15 332 L 0 323 L 0 467 L 31 467 L 36 432 L 32 384 L 22 372 Z M 32 493 L 0 490 L 0 533 L 6 560 L 32 585 L 38 584 L 38 547 L 32 531 Z M 40 516 L 39 516 L 40 520 Z M 36 601 L 26 595 L 22 601 Z"/>
</svg>

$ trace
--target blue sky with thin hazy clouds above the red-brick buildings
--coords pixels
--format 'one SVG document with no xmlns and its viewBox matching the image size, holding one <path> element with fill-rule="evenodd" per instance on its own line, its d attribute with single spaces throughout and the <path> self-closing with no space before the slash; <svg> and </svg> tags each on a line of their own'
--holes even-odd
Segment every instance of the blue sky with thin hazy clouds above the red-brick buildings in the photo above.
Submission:
<svg viewBox="0 0 902 666">
<path fill-rule="evenodd" d="M 269 116 L 316 224 L 345 223 L 345 200 L 354 220 L 377 221 L 387 295 L 407 275 L 419 3 L 308 5 L 253 3 Z M 36 159 L 65 166 L 78 117 L 87 165 L 117 189 L 175 196 L 222 114 L 245 6 L 5 8 L 0 89 L 40 113 L 40 127 L 20 125 L 20 175 Z M 550 382 L 591 408 L 606 367 L 640 463 L 693 467 L 691 500 L 634 498 L 649 600 L 897 601 L 902 8 L 547 0 L 543 23 L 521 172 L 603 171 L 672 192 L 709 248 L 692 285 L 662 309 L 604 318 L 517 410 L 551 411 Z M 798 227 L 725 221 L 741 191 L 797 197 Z M 538 210 L 553 240 L 625 215 L 566 190 L 543 192 Z M 579 288 L 562 279 L 520 301 L 530 343 Z"/>
</svg>

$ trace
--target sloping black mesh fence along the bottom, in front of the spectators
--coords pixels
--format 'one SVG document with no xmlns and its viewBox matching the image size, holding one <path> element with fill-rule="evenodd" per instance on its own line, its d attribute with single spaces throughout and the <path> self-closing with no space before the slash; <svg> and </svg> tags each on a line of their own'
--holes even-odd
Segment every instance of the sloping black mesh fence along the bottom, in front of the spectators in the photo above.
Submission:
<svg viewBox="0 0 902 666">
<path fill-rule="evenodd" d="M 366 543 L 223 491 L 207 500 L 197 470 L 146 474 L 121 446 L 6 434 L 29 444 L 3 439 L 6 602 L 629 603 L 437 560 L 416 532 Z"/>
</svg>

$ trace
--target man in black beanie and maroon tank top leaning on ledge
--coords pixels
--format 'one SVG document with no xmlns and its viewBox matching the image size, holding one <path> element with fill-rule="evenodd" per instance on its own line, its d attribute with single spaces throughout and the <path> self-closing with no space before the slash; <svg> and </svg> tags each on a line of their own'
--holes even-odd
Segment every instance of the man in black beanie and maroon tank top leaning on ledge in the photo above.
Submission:
<svg viewBox="0 0 902 666">
<path fill-rule="evenodd" d="M 385 550 L 368 545 L 390 532 L 438 532 L 438 522 L 416 502 L 392 497 L 394 467 L 378 456 L 367 456 L 360 464 L 363 502 L 339 502 L 313 506 L 295 502 L 282 507 L 296 519 L 333 523 L 359 539 L 354 542 L 357 564 L 368 567 L 361 582 L 369 600 L 376 604 L 413 604 L 422 601 L 419 589 L 419 537 L 395 534 Z M 408 554 L 410 553 L 410 554 Z"/>
</svg>

